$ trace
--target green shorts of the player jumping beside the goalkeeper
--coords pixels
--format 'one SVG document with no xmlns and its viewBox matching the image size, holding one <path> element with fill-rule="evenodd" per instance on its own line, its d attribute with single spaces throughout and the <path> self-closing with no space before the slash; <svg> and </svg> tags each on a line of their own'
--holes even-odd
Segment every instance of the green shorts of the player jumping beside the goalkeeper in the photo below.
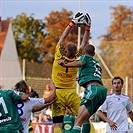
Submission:
<svg viewBox="0 0 133 133">
<path fill-rule="evenodd" d="M 89 85 L 84 91 L 80 106 L 85 105 L 90 114 L 94 114 L 104 103 L 107 96 L 107 88 L 99 85 Z"/>
</svg>

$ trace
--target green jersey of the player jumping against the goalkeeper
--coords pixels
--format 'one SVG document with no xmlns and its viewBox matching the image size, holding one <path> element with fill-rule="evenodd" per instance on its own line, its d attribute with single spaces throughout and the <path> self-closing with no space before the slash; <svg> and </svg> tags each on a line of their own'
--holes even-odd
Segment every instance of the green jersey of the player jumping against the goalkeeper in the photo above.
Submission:
<svg viewBox="0 0 133 133">
<path fill-rule="evenodd" d="M 102 84 L 102 68 L 93 56 L 80 56 L 77 60 L 81 60 L 83 64 L 82 67 L 79 67 L 78 72 L 80 86 L 84 86 L 84 84 L 90 81 L 98 81 Z"/>
</svg>

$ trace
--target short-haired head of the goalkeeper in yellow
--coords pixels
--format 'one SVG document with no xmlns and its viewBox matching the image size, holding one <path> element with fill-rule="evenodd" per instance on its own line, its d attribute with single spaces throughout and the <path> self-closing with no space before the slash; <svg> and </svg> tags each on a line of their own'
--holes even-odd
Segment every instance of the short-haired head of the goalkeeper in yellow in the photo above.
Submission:
<svg viewBox="0 0 133 133">
<path fill-rule="evenodd" d="M 69 42 L 67 43 L 64 52 L 68 58 L 73 58 L 75 57 L 75 54 L 77 53 L 77 46 L 73 42 Z"/>
</svg>

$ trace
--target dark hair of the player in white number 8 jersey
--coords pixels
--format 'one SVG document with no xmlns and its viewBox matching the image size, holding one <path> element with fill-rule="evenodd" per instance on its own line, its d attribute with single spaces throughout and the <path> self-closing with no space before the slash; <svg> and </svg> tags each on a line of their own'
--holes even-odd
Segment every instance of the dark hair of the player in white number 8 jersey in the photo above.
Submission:
<svg viewBox="0 0 133 133">
<path fill-rule="evenodd" d="M 21 80 L 15 85 L 14 90 L 26 93 L 27 87 L 28 87 L 28 85 L 27 85 L 26 81 Z"/>
</svg>

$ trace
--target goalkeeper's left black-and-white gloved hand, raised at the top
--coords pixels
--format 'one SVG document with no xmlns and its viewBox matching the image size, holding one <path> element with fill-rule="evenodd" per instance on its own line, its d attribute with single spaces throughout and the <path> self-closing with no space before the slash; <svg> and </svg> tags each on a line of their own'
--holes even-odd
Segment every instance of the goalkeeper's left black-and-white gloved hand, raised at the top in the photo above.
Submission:
<svg viewBox="0 0 133 133">
<path fill-rule="evenodd" d="M 84 14 L 82 12 L 77 12 L 72 19 L 72 22 L 74 22 L 77 25 L 84 24 Z"/>
</svg>

